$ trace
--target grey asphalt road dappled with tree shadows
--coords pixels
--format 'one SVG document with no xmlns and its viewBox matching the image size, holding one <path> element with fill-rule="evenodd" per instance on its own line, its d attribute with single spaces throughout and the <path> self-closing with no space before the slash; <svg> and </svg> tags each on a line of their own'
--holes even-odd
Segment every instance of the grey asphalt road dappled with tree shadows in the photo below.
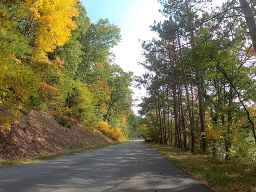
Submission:
<svg viewBox="0 0 256 192">
<path fill-rule="evenodd" d="M 142 140 L 0 168 L 0 192 L 212 192 Z"/>
</svg>

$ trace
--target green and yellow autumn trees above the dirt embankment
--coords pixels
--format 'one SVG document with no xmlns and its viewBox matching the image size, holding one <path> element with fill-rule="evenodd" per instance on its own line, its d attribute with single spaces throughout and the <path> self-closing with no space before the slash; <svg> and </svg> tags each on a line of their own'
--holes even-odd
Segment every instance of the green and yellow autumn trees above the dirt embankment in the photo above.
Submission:
<svg viewBox="0 0 256 192">
<path fill-rule="evenodd" d="M 114 63 L 120 28 L 78 0 L 0 1 L 0 128 L 46 111 L 113 140 L 136 138 L 134 75 Z"/>
</svg>

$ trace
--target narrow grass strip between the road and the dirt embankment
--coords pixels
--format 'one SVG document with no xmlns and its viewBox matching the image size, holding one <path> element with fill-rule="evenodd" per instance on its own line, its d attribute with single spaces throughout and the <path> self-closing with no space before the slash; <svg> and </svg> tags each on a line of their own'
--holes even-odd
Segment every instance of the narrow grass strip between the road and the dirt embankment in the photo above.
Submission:
<svg viewBox="0 0 256 192">
<path fill-rule="evenodd" d="M 49 160 L 49 159 L 54 159 L 54 158 L 57 158 L 60 156 L 67 156 L 67 155 L 72 155 L 72 154 L 76 154 L 76 153 L 82 153 L 82 152 L 100 149 L 100 148 L 104 148 L 104 147 L 108 147 L 108 146 L 112 146 L 112 145 L 116 145 L 116 144 L 120 144 L 120 143 L 122 143 L 122 142 L 109 143 L 106 145 L 100 145 L 100 146 L 91 147 L 91 148 L 84 148 L 84 149 L 80 149 L 80 150 L 61 152 L 61 153 L 51 154 L 51 155 L 47 155 L 47 156 L 28 157 L 28 158 L 22 158 L 22 159 L 14 159 L 14 160 L 0 160 L 0 167 Z"/>
</svg>

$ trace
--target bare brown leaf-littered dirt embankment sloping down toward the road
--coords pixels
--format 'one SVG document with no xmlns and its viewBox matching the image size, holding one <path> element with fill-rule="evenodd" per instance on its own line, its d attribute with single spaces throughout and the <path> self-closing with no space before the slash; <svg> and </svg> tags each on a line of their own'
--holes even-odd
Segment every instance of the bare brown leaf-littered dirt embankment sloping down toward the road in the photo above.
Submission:
<svg viewBox="0 0 256 192">
<path fill-rule="evenodd" d="M 112 142 L 98 130 L 70 128 L 45 112 L 33 110 L 23 115 L 11 131 L 0 130 L 0 158 L 34 157 L 104 145 Z"/>
</svg>

